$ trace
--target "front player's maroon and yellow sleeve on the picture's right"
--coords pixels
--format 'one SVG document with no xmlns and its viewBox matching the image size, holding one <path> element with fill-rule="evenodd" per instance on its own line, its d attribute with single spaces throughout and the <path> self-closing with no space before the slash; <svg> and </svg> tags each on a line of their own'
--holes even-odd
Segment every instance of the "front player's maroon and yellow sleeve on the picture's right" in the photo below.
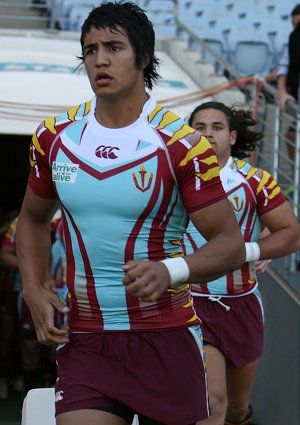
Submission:
<svg viewBox="0 0 300 425">
<path fill-rule="evenodd" d="M 217 157 L 208 140 L 195 132 L 186 142 L 188 149 L 178 162 L 177 176 L 185 209 L 191 213 L 226 198 L 226 194 Z"/>
</svg>

